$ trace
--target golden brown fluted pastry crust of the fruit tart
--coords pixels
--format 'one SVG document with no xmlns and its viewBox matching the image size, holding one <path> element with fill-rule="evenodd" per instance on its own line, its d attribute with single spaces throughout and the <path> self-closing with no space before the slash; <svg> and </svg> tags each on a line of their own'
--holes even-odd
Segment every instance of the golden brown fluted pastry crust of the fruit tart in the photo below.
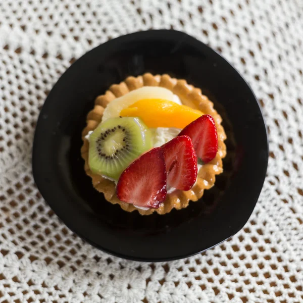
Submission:
<svg viewBox="0 0 303 303">
<path fill-rule="evenodd" d="M 199 170 L 196 184 L 188 191 L 176 190 L 168 194 L 165 202 L 161 204 L 159 209 L 149 209 L 148 211 L 139 210 L 132 204 L 120 201 L 116 195 L 115 183 L 91 172 L 88 166 L 88 141 L 84 138 L 90 130 L 94 130 L 101 122 L 104 109 L 113 99 L 142 86 L 162 86 L 170 89 L 178 95 L 182 104 L 212 115 L 218 131 L 217 156 L 211 162 L 203 165 Z M 94 109 L 87 115 L 87 125 L 82 132 L 83 146 L 81 148 L 81 155 L 85 161 L 85 172 L 91 177 L 92 184 L 96 190 L 103 192 L 109 202 L 119 204 L 127 212 L 137 210 L 141 215 L 150 215 L 153 212 L 163 215 L 169 213 L 173 208 L 177 210 L 185 208 L 188 206 L 190 200 L 198 200 L 203 195 L 205 189 L 211 188 L 215 183 L 216 175 L 223 172 L 222 158 L 226 156 L 226 145 L 224 143 L 226 134 L 221 122 L 221 116 L 214 109 L 214 105 L 208 97 L 203 95 L 199 88 L 187 84 L 185 80 L 171 78 L 166 74 L 154 76 L 149 73 L 138 77 L 128 77 L 120 84 L 111 85 L 104 95 L 96 97 Z"/>
</svg>

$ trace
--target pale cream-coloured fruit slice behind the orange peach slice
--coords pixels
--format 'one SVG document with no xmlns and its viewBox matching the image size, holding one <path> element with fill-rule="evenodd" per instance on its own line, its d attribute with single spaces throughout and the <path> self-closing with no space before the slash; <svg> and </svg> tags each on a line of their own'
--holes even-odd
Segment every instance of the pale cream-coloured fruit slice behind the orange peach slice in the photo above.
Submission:
<svg viewBox="0 0 303 303">
<path fill-rule="evenodd" d="M 108 104 L 104 113 L 102 122 L 109 118 L 117 118 L 123 109 L 128 108 L 141 99 L 148 98 L 164 98 L 174 100 L 174 94 L 171 90 L 159 86 L 143 86 L 141 88 L 130 91 L 122 97 L 114 99 Z"/>
</svg>

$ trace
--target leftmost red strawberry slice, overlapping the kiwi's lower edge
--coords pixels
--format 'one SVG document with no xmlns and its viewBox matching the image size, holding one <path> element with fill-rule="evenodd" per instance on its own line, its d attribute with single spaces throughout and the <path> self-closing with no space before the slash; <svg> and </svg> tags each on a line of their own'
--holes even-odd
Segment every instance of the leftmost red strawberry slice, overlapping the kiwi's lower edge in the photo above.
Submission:
<svg viewBox="0 0 303 303">
<path fill-rule="evenodd" d="M 117 196 L 138 207 L 160 207 L 166 198 L 166 167 L 161 147 L 147 151 L 121 174 Z"/>
</svg>

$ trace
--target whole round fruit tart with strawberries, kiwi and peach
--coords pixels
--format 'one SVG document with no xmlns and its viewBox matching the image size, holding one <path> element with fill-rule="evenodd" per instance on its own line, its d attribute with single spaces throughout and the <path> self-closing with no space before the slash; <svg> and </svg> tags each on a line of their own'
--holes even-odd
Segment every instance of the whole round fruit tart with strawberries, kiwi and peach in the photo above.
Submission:
<svg viewBox="0 0 303 303">
<path fill-rule="evenodd" d="M 223 172 L 226 134 L 199 88 L 146 73 L 95 99 L 82 132 L 85 172 L 112 204 L 141 215 L 186 208 Z"/>
</svg>

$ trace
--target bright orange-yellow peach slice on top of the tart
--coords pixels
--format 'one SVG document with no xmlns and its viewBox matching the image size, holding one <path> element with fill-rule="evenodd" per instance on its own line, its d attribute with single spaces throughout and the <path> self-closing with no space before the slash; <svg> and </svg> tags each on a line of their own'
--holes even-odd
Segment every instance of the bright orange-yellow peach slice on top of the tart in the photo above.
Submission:
<svg viewBox="0 0 303 303">
<path fill-rule="evenodd" d="M 122 117 L 139 117 L 148 127 L 183 128 L 203 115 L 198 110 L 165 99 L 142 99 L 121 111 Z"/>
</svg>

